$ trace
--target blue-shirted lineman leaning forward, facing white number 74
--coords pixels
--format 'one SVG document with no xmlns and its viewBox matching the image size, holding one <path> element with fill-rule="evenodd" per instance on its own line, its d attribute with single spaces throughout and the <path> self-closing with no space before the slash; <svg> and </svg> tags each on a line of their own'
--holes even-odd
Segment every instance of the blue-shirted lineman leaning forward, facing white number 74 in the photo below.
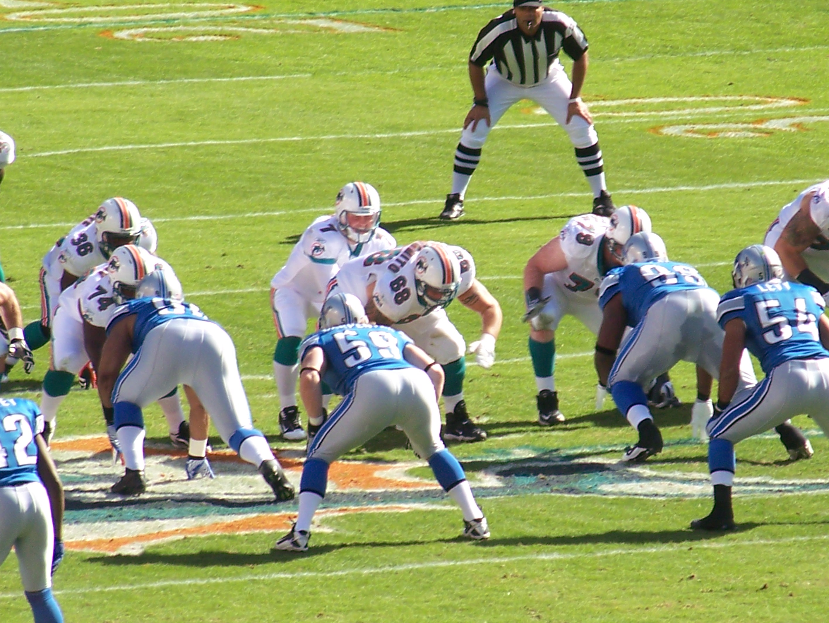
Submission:
<svg viewBox="0 0 829 623">
<path fill-rule="evenodd" d="M 133 359 L 121 372 L 129 354 Z M 143 406 L 178 384 L 210 413 L 222 440 L 259 468 L 278 500 L 293 499 L 293 486 L 264 435 L 253 427 L 250 406 L 236 365 L 236 349 L 224 329 L 194 304 L 168 270 L 154 270 L 136 289 L 136 299 L 116 309 L 101 353 L 98 392 L 113 408 L 126 472 L 112 487 L 140 494 L 143 477 Z"/>
</svg>

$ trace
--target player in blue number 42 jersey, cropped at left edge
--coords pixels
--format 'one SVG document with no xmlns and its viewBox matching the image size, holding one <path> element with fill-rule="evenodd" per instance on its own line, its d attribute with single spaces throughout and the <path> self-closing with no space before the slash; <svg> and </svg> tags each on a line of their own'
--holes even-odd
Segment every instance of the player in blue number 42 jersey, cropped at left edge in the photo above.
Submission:
<svg viewBox="0 0 829 623">
<path fill-rule="evenodd" d="M 14 546 L 35 623 L 63 621 L 51 577 L 63 557 L 63 487 L 31 400 L 0 398 L 0 564 Z"/>
</svg>

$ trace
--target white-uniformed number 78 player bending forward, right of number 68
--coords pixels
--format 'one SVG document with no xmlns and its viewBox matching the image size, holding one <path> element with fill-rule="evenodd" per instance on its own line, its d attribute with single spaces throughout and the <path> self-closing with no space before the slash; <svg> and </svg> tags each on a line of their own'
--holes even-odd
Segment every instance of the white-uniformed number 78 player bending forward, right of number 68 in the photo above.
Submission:
<svg viewBox="0 0 829 623">
<path fill-rule="evenodd" d="M 536 373 L 538 421 L 551 426 L 565 421 L 555 391 L 555 329 L 570 314 L 590 333 L 599 333 L 599 285 L 608 270 L 622 265 L 621 252 L 630 236 L 651 231 L 651 218 L 641 207 L 623 206 L 613 215 L 583 214 L 567 221 L 558 236 L 536 251 L 524 268 L 526 314 L 530 323 L 530 355 Z M 597 388 L 596 403 L 604 401 Z"/>
</svg>

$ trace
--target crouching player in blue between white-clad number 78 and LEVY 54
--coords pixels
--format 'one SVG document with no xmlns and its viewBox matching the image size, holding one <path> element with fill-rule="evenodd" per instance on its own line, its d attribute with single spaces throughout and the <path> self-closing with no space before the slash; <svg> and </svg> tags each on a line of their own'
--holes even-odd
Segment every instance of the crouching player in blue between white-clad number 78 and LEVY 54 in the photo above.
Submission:
<svg viewBox="0 0 829 623">
<path fill-rule="evenodd" d="M 697 402 L 693 416 L 707 421 L 712 377 L 720 367 L 723 333 L 716 322 L 720 295 L 691 265 L 668 261 L 665 243 L 653 233 L 630 237 L 625 265 L 608 273 L 599 290 L 603 310 L 596 341 L 599 382 L 609 387 L 619 411 L 639 432 L 623 460 L 641 462 L 662 451 L 662 433 L 653 423 L 642 387 L 680 360 L 696 363 Z M 626 326 L 633 327 L 617 355 Z M 756 382 L 748 353 L 740 373 L 745 386 Z"/>
</svg>

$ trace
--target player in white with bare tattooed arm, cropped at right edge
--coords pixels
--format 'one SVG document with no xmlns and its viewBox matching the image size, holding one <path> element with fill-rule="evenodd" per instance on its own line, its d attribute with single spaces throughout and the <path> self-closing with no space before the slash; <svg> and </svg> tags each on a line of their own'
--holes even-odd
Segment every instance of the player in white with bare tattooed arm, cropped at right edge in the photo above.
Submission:
<svg viewBox="0 0 829 623">
<path fill-rule="evenodd" d="M 829 292 L 829 180 L 783 206 L 763 242 L 778 252 L 784 278 Z"/>
</svg>

